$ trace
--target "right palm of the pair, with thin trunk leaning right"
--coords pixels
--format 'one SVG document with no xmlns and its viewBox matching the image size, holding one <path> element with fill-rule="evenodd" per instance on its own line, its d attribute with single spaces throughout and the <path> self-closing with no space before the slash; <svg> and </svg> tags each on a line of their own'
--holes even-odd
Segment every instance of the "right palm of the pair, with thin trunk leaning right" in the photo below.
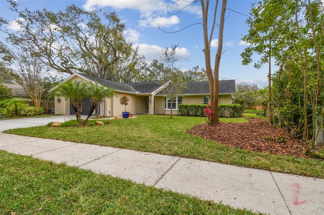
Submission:
<svg viewBox="0 0 324 215">
<path fill-rule="evenodd" d="M 98 106 L 98 101 L 103 100 L 104 98 L 110 98 L 115 95 L 114 89 L 111 87 L 104 87 L 100 85 L 97 81 L 95 83 L 89 82 L 88 83 L 88 92 L 87 97 L 92 99 L 91 102 L 91 109 L 88 114 L 87 119 L 85 120 L 85 124 L 87 123 L 88 119 L 90 118 L 91 114 Z"/>
</svg>

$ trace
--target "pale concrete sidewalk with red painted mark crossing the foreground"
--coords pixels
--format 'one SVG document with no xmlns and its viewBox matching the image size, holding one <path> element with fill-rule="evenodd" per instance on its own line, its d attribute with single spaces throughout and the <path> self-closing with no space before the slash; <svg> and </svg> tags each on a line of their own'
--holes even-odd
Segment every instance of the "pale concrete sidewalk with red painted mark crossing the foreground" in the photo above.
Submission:
<svg viewBox="0 0 324 215">
<path fill-rule="evenodd" d="M 0 150 L 269 214 L 324 214 L 324 180 L 0 132 Z"/>
</svg>

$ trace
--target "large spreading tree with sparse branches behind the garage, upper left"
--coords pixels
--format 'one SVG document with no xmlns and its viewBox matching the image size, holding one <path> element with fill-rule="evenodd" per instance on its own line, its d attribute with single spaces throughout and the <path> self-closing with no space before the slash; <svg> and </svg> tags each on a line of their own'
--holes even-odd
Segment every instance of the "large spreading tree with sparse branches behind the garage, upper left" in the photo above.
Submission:
<svg viewBox="0 0 324 215">
<path fill-rule="evenodd" d="M 56 72 L 125 81 L 143 63 L 138 49 L 126 42 L 125 25 L 115 13 L 89 12 L 75 5 L 58 13 L 46 9 L 19 11 L 15 1 L 10 3 L 12 11 L 19 15 L 16 22 L 21 28 L 11 32 L 4 27 L 8 21 L 1 20 L 0 30 L 8 34 L 12 44 L 29 47 L 32 55 Z"/>
</svg>

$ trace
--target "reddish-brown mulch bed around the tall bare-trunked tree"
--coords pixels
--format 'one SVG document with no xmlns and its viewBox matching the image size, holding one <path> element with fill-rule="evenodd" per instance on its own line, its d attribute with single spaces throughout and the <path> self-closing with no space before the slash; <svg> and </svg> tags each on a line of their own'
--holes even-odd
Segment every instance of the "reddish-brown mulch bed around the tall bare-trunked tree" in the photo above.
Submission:
<svg viewBox="0 0 324 215">
<path fill-rule="evenodd" d="M 201 124 L 188 133 L 231 148 L 309 159 L 303 152 L 309 150 L 310 146 L 302 140 L 294 138 L 283 128 L 268 126 L 264 119 L 248 120 L 248 123 L 220 123 L 216 127 Z"/>
</svg>

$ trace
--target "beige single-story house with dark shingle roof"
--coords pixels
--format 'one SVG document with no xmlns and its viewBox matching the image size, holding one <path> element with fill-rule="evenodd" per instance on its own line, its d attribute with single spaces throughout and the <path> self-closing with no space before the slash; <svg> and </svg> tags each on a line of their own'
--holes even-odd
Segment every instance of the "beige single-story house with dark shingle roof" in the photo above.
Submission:
<svg viewBox="0 0 324 215">
<path fill-rule="evenodd" d="M 102 86 L 112 87 L 117 96 L 106 98 L 100 102 L 94 114 L 99 116 L 120 116 L 125 111 L 125 106 L 119 103 L 119 97 L 126 94 L 129 98 L 129 105 L 126 106 L 126 111 L 134 115 L 136 114 L 160 114 L 170 115 L 171 99 L 166 97 L 163 89 L 169 85 L 161 84 L 158 81 L 132 82 L 132 83 L 118 83 L 85 74 L 74 73 L 65 79 L 83 82 L 97 81 Z M 55 91 L 55 88 L 52 89 Z M 232 103 L 232 97 L 235 93 L 235 80 L 221 80 L 219 81 L 219 103 Z M 209 102 L 209 85 L 207 81 L 204 82 L 189 82 L 187 88 L 177 96 L 173 103 L 173 114 L 178 114 L 178 105 L 183 104 L 197 104 Z M 89 114 L 91 106 L 91 99 L 83 99 L 83 113 Z M 55 97 L 55 114 L 74 114 L 69 100 Z"/>
</svg>

